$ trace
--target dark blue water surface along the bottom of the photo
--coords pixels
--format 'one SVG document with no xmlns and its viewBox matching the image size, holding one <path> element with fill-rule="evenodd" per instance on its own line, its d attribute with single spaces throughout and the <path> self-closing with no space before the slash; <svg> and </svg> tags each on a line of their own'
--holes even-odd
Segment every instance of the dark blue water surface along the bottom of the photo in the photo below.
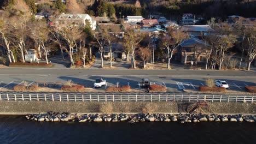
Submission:
<svg viewBox="0 0 256 144">
<path fill-rule="evenodd" d="M 256 123 L 40 123 L 0 116 L 2 143 L 256 143 Z"/>
</svg>

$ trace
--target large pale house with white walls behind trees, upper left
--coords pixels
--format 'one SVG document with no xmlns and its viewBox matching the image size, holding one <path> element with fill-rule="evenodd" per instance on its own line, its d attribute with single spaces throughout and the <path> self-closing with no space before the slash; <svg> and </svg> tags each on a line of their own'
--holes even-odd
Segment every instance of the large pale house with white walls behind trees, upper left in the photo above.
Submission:
<svg viewBox="0 0 256 144">
<path fill-rule="evenodd" d="M 96 29 L 96 21 L 91 19 L 91 16 L 88 14 L 61 14 L 56 19 L 56 25 L 61 26 L 65 25 L 70 21 L 77 23 L 80 27 L 84 27 L 86 25 L 86 20 L 91 23 L 91 29 Z"/>
</svg>

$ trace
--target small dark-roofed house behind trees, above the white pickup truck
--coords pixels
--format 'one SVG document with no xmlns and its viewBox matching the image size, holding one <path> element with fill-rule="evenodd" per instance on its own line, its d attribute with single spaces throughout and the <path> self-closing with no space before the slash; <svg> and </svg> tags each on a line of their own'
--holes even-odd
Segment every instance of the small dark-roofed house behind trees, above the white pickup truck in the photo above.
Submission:
<svg viewBox="0 0 256 144">
<path fill-rule="evenodd" d="M 121 43 L 115 43 L 112 44 L 112 58 L 119 58 L 119 59 L 125 59 L 125 50 L 123 47 L 123 44 Z M 109 59 L 110 53 L 109 53 L 109 47 L 104 46 L 104 58 Z"/>
</svg>

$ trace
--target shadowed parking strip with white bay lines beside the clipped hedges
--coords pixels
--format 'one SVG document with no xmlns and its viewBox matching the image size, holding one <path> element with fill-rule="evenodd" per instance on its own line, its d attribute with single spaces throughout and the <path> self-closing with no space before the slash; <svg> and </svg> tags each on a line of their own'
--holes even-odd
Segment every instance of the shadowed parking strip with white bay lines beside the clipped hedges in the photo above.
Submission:
<svg viewBox="0 0 256 144">
<path fill-rule="evenodd" d="M 94 88 L 95 79 L 100 76 L 59 76 L 59 77 L 30 77 L 28 80 L 17 80 L 14 77 L 4 77 L 0 79 L 0 88 L 8 88 L 12 89 L 15 85 L 24 85 L 26 83 L 27 86 L 36 85 L 38 83 L 39 86 L 43 87 L 45 84 L 53 85 L 54 82 L 59 83 L 56 87 L 61 87 L 61 85 L 65 84 L 68 80 L 72 80 L 73 83 L 78 85 L 83 85 L 88 88 Z M 1 78 L 1 77 L 0 77 Z M 131 88 L 136 89 L 144 89 L 139 85 L 143 77 L 136 76 L 102 76 L 102 79 L 106 80 L 106 85 L 102 86 L 99 89 L 106 89 L 111 86 L 126 86 L 129 85 Z M 215 78 L 215 77 L 214 77 Z M 149 77 L 151 85 L 162 85 L 167 87 L 167 92 L 182 92 L 183 89 L 198 89 L 199 86 L 205 86 L 205 77 L 197 77 L 194 79 L 182 79 L 177 77 L 157 77 L 152 76 Z M 215 79 L 217 80 L 218 77 Z M 232 91 L 244 91 L 245 86 L 255 86 L 256 80 L 254 79 L 220 79 L 225 80 L 229 89 Z"/>
</svg>

